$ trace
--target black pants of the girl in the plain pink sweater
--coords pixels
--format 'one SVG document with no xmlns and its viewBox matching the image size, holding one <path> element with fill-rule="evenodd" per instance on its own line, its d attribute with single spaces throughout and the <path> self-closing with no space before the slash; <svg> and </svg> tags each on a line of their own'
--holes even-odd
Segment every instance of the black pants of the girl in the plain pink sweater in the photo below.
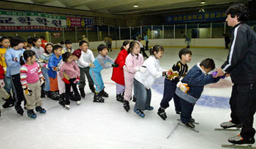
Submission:
<svg viewBox="0 0 256 149">
<path fill-rule="evenodd" d="M 80 94 L 78 93 L 78 88 L 77 88 L 77 84 L 74 83 L 75 81 L 75 78 L 73 79 L 69 79 L 69 83 L 70 84 L 67 84 L 65 83 L 65 100 L 64 100 L 64 103 L 66 105 L 69 105 L 70 104 L 70 101 L 69 101 L 69 97 L 71 96 L 71 92 L 70 92 L 70 88 L 72 86 L 73 88 L 73 91 L 75 93 L 75 101 L 80 101 L 81 100 L 81 96 Z"/>
</svg>

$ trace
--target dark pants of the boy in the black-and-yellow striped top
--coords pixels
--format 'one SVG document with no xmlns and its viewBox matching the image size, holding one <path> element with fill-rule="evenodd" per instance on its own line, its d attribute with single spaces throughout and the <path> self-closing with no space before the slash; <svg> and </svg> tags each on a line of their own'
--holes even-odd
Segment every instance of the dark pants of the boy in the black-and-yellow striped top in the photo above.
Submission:
<svg viewBox="0 0 256 149">
<path fill-rule="evenodd" d="M 176 95 L 175 91 L 176 91 L 176 83 L 174 81 L 165 79 L 164 96 L 162 97 L 160 106 L 166 109 L 167 107 L 170 106 L 169 105 L 170 100 L 173 99 L 176 112 L 181 112 L 180 99 Z"/>
</svg>

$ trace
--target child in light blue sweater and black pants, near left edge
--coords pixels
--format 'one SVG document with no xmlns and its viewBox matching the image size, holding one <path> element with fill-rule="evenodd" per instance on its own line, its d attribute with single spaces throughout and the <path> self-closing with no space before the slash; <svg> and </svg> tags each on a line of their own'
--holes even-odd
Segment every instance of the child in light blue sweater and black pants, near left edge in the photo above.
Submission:
<svg viewBox="0 0 256 149">
<path fill-rule="evenodd" d="M 25 51 L 23 49 L 25 39 L 22 37 L 12 37 L 10 43 L 12 48 L 7 50 L 5 53 L 5 61 L 7 63 L 7 68 L 10 70 L 10 76 L 12 80 L 12 92 L 15 94 L 15 110 L 18 114 L 23 115 L 23 108 L 21 107 L 21 102 L 24 99 L 23 89 L 20 83 L 20 56 Z"/>
</svg>

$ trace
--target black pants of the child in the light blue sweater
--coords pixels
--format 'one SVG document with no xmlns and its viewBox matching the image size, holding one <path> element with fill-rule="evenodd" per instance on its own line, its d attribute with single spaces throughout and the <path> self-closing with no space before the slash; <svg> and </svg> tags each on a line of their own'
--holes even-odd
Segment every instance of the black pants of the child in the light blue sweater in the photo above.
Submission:
<svg viewBox="0 0 256 149">
<path fill-rule="evenodd" d="M 12 92 L 14 93 L 15 98 L 15 107 L 20 107 L 21 102 L 25 99 L 23 95 L 23 88 L 20 83 L 20 74 L 12 75 Z M 26 100 L 24 100 L 24 105 L 26 104 Z"/>
</svg>

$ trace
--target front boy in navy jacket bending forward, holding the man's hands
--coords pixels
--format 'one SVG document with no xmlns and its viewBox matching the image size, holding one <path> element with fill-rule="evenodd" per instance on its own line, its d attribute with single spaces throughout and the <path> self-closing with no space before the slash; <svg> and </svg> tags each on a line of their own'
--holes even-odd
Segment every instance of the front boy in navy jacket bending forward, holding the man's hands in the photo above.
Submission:
<svg viewBox="0 0 256 149">
<path fill-rule="evenodd" d="M 195 120 L 192 119 L 191 115 L 195 102 L 197 102 L 203 92 L 204 85 L 217 83 L 219 81 L 219 77 L 214 78 L 213 75 L 207 75 L 207 73 L 211 72 L 214 68 L 214 60 L 206 58 L 201 63 L 193 66 L 184 79 L 177 84 L 175 93 L 180 97 L 181 122 L 189 128 L 195 128 L 195 125 L 192 123 Z"/>
</svg>

